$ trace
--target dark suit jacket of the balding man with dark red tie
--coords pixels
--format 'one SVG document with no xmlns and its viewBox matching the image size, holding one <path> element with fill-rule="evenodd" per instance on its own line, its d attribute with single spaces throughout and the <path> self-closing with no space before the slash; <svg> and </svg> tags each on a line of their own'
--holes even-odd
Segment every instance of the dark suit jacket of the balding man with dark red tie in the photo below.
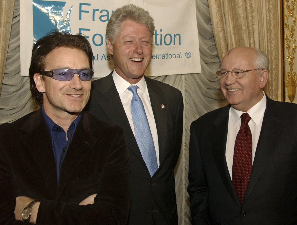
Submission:
<svg viewBox="0 0 297 225">
<path fill-rule="evenodd" d="M 267 98 L 242 205 L 225 157 L 229 108 L 206 113 L 190 128 L 193 224 L 297 224 L 297 105 Z"/>
</svg>

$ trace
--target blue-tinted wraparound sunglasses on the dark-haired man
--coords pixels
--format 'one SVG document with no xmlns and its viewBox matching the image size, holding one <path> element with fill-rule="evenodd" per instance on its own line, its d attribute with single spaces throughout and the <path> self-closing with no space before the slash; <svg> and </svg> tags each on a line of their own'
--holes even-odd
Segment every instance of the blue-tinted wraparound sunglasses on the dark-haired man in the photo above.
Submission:
<svg viewBox="0 0 297 225">
<path fill-rule="evenodd" d="M 94 76 L 93 69 L 54 69 L 40 72 L 40 74 L 58 81 L 70 81 L 75 73 L 78 74 L 81 81 L 92 80 Z"/>
</svg>

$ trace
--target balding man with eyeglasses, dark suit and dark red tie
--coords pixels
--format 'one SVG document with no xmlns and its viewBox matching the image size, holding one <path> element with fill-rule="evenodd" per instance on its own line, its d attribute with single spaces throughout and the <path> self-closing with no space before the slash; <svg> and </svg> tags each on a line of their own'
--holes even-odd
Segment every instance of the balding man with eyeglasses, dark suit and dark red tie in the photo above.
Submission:
<svg viewBox="0 0 297 225">
<path fill-rule="evenodd" d="M 217 71 L 229 105 L 191 125 L 193 225 L 297 224 L 297 106 L 264 93 L 269 60 L 237 47 Z"/>
</svg>

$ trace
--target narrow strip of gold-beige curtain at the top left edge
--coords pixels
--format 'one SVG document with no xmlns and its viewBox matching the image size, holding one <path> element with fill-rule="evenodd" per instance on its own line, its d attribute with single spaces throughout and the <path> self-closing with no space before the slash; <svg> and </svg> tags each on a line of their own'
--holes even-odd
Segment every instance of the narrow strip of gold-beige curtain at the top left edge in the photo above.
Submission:
<svg viewBox="0 0 297 225">
<path fill-rule="evenodd" d="M 0 94 L 11 32 L 14 4 L 14 0 L 0 1 Z"/>
</svg>

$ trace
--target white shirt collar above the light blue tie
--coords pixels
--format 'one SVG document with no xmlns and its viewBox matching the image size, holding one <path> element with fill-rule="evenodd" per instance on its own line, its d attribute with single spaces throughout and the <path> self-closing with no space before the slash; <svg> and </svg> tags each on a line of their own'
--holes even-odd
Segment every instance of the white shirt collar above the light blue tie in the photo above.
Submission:
<svg viewBox="0 0 297 225">
<path fill-rule="evenodd" d="M 131 86 L 131 84 L 128 81 L 126 81 L 123 77 L 118 75 L 118 73 L 115 70 L 112 73 L 112 78 L 114 80 L 114 84 L 118 91 L 118 94 L 120 95 L 123 94 L 123 92 L 125 92 L 127 88 Z M 144 92 L 146 95 L 149 95 L 149 91 L 146 86 L 144 76 L 142 76 L 141 80 L 138 81 L 138 83 L 136 83 L 135 85 L 137 85 L 140 88 L 140 90 Z"/>
</svg>

